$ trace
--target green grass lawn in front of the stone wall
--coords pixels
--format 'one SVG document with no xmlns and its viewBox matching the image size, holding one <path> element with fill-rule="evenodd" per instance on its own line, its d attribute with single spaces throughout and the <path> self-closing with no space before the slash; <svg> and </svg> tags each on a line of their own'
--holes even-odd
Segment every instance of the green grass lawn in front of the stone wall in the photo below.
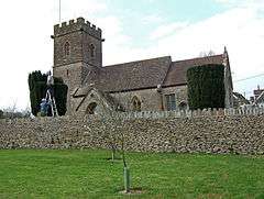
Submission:
<svg viewBox="0 0 264 199">
<path fill-rule="evenodd" d="M 123 196 L 122 162 L 107 151 L 0 151 L 0 198 L 264 198 L 264 156 L 128 153 L 132 187 Z"/>
</svg>

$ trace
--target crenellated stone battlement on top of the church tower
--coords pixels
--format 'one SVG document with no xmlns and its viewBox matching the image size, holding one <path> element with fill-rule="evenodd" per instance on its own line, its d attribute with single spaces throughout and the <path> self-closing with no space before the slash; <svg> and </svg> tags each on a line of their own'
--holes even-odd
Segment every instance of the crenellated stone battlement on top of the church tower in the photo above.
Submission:
<svg viewBox="0 0 264 199">
<path fill-rule="evenodd" d="M 98 40 L 101 40 L 101 29 L 91 24 L 89 21 L 85 21 L 84 18 L 54 25 L 54 36 L 65 35 L 75 31 L 84 31 Z"/>
</svg>

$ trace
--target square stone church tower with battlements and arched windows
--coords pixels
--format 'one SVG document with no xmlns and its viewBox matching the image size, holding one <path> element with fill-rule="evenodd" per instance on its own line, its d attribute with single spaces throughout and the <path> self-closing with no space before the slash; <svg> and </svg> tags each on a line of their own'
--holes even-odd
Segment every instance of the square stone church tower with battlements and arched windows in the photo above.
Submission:
<svg viewBox="0 0 264 199">
<path fill-rule="evenodd" d="M 84 18 L 54 25 L 55 77 L 63 78 L 68 86 L 67 109 L 70 112 L 70 98 L 80 87 L 89 71 L 102 67 L 101 30 Z"/>
</svg>

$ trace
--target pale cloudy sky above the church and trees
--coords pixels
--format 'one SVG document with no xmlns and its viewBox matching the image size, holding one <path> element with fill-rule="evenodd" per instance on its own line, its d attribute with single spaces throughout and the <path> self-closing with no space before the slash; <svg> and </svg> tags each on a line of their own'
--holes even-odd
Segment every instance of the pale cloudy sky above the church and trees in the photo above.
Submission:
<svg viewBox="0 0 264 199">
<path fill-rule="evenodd" d="M 58 4 L 0 2 L 0 109 L 30 107 L 29 73 L 52 69 Z M 78 16 L 102 29 L 103 65 L 164 55 L 180 60 L 227 46 L 234 91 L 249 98 L 264 88 L 264 0 L 62 0 L 62 22 Z"/>
</svg>

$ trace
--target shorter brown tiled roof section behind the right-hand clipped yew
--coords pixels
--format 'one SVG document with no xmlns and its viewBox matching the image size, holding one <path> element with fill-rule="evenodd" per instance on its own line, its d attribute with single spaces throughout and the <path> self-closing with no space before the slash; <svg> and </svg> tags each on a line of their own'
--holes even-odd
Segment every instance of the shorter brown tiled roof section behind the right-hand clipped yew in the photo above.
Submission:
<svg viewBox="0 0 264 199">
<path fill-rule="evenodd" d="M 177 86 L 187 84 L 187 70 L 194 66 L 207 64 L 222 64 L 223 55 L 215 55 L 208 57 L 199 57 L 172 63 L 163 87 Z"/>
</svg>

